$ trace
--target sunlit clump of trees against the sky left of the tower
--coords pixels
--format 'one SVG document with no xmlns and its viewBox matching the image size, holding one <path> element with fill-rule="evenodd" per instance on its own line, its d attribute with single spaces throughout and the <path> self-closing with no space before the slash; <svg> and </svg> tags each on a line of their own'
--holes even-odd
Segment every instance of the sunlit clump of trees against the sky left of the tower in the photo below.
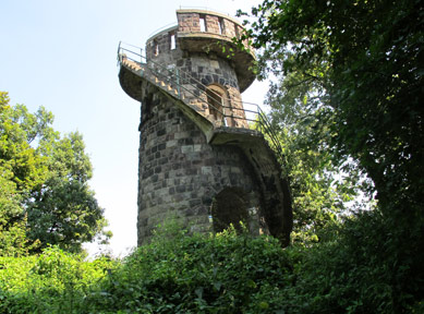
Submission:
<svg viewBox="0 0 424 314">
<path fill-rule="evenodd" d="M 0 255 L 49 244 L 80 251 L 106 226 L 87 183 L 92 164 L 83 137 L 62 137 L 43 107 L 31 113 L 9 102 L 0 92 Z"/>
</svg>

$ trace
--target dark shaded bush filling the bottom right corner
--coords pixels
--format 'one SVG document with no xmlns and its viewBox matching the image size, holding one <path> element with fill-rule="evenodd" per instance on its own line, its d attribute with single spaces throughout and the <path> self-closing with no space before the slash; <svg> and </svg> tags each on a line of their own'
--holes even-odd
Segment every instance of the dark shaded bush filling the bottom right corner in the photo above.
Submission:
<svg viewBox="0 0 424 314">
<path fill-rule="evenodd" d="M 303 305 L 290 313 L 421 313 L 424 234 L 390 226 L 378 209 L 359 213 L 332 241 L 303 250 L 295 285 Z"/>
</svg>

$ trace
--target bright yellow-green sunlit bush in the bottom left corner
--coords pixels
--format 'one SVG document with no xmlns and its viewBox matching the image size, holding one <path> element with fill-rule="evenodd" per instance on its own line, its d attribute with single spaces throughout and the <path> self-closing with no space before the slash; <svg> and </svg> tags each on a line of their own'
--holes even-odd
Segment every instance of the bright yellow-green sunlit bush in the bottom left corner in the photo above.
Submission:
<svg viewBox="0 0 424 314">
<path fill-rule="evenodd" d="M 0 257 L 0 313 L 82 313 L 82 299 L 116 263 L 58 247 L 39 256 Z"/>
</svg>

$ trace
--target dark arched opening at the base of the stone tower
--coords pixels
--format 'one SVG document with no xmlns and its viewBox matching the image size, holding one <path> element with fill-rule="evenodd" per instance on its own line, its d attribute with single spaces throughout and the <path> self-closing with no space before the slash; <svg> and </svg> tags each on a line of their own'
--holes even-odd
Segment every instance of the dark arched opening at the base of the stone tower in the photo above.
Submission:
<svg viewBox="0 0 424 314">
<path fill-rule="evenodd" d="M 235 230 L 241 231 L 240 221 L 249 224 L 249 197 L 240 188 L 225 188 L 215 195 L 210 214 L 215 232 L 221 232 L 232 224 Z"/>
</svg>

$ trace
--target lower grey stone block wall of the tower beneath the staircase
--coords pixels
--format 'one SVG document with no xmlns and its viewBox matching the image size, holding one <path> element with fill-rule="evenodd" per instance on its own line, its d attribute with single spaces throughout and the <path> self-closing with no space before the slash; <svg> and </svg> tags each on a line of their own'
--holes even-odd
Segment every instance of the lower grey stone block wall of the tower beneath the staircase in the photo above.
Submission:
<svg viewBox="0 0 424 314">
<path fill-rule="evenodd" d="M 213 200 L 231 188 L 243 194 L 249 226 L 259 232 L 259 194 L 254 170 L 243 153 L 235 146 L 208 145 L 202 131 L 172 100 L 149 83 L 143 88 L 138 245 L 170 215 L 194 222 L 198 231 L 211 230 Z"/>
</svg>

